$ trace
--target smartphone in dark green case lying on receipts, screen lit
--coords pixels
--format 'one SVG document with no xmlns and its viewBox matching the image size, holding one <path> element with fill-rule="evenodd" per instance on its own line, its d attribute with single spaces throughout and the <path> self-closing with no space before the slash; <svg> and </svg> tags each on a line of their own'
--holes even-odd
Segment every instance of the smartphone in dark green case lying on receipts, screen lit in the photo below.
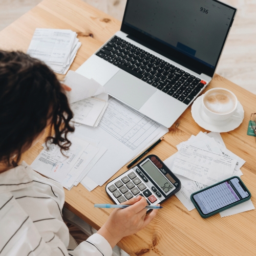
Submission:
<svg viewBox="0 0 256 256">
<path fill-rule="evenodd" d="M 241 204 L 250 198 L 249 190 L 237 176 L 206 187 L 190 196 L 203 218 L 218 214 L 218 212 Z"/>
</svg>

